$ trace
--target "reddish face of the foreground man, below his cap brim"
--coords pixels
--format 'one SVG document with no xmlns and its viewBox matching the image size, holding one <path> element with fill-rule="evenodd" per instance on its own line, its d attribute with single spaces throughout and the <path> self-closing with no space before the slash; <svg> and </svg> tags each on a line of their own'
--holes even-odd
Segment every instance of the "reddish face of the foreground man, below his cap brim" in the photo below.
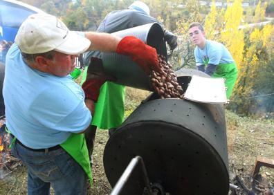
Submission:
<svg viewBox="0 0 274 195">
<path fill-rule="evenodd" d="M 55 51 L 53 59 L 48 63 L 48 71 L 59 77 L 69 75 L 76 66 L 75 57 L 78 55 L 67 55 Z"/>
</svg>

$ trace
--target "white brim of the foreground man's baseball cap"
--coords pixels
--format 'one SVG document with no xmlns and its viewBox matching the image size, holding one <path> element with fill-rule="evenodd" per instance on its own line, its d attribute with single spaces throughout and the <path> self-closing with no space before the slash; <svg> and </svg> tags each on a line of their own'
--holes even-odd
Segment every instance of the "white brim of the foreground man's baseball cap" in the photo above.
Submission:
<svg viewBox="0 0 274 195">
<path fill-rule="evenodd" d="M 91 45 L 89 39 L 78 35 L 76 32 L 69 31 L 67 36 L 66 41 L 64 41 L 60 46 L 57 46 L 54 50 L 69 55 L 78 55 L 84 53 Z"/>
</svg>

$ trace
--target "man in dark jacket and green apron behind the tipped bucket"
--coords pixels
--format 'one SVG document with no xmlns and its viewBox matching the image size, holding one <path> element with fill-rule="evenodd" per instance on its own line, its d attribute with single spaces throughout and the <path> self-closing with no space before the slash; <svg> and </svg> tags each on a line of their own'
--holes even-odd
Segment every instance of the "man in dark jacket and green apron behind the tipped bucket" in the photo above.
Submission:
<svg viewBox="0 0 274 195">
<path fill-rule="evenodd" d="M 163 27 L 158 20 L 150 16 L 149 7 L 142 1 L 134 1 L 128 9 L 116 10 L 110 12 L 98 27 L 98 32 L 117 32 L 135 26 L 141 26 L 149 23 L 158 23 Z M 174 50 L 177 46 L 177 37 L 172 32 L 163 27 L 165 41 Z M 90 51 L 84 53 L 84 64 L 89 66 L 91 57 L 99 57 L 100 52 Z M 83 81 L 86 77 L 82 77 Z M 115 99 L 112 97 L 116 97 Z M 89 149 L 89 154 L 92 154 L 94 137 L 97 127 L 99 129 L 110 129 L 111 134 L 117 127 L 122 124 L 125 112 L 125 86 L 106 82 L 100 89 L 98 100 L 94 100 L 95 115 L 92 120 L 92 125 L 89 131 L 86 131 L 86 145 Z"/>
</svg>

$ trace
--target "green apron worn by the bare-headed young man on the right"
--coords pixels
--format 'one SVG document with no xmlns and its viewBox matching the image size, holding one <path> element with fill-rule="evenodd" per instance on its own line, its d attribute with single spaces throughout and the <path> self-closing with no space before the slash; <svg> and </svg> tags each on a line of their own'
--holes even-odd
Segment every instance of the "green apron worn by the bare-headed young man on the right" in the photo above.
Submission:
<svg viewBox="0 0 274 195">
<path fill-rule="evenodd" d="M 208 66 L 208 60 L 203 61 L 206 66 Z M 225 86 L 227 88 L 226 98 L 232 94 L 233 87 L 235 86 L 237 80 L 238 70 L 235 63 L 230 64 L 218 64 L 216 71 L 214 71 L 212 77 L 214 78 L 225 78 Z"/>
</svg>

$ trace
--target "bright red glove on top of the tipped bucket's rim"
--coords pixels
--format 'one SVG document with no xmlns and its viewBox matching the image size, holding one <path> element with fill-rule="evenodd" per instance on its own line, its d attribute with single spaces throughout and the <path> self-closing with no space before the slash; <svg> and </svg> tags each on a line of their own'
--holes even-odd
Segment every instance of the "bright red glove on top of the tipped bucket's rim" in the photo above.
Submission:
<svg viewBox="0 0 274 195">
<path fill-rule="evenodd" d="M 161 72 L 156 49 L 134 36 L 122 38 L 116 48 L 116 53 L 129 55 L 147 74 L 152 70 Z"/>
</svg>

